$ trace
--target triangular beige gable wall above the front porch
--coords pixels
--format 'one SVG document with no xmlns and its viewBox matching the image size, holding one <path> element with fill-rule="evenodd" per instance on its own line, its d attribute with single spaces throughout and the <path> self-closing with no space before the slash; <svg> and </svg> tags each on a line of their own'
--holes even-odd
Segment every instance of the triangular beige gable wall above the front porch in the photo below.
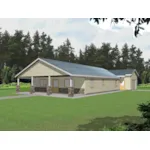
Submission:
<svg viewBox="0 0 150 150">
<path fill-rule="evenodd" d="M 52 68 L 48 65 L 45 65 L 42 62 L 37 62 L 29 69 L 27 69 L 24 73 L 22 73 L 19 77 L 31 77 L 31 76 L 59 76 L 64 75 L 64 73 Z"/>
</svg>

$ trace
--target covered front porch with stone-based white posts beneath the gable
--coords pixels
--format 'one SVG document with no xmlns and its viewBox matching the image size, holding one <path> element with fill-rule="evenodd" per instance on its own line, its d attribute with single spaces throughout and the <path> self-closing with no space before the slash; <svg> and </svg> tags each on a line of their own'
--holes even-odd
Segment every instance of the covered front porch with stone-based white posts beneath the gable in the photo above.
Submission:
<svg viewBox="0 0 150 150">
<path fill-rule="evenodd" d="M 20 79 L 17 78 L 16 92 L 20 92 Z M 75 81 L 71 76 L 31 76 L 30 94 L 43 93 L 52 94 L 67 94 L 68 97 L 73 97 L 74 94 L 81 94 L 80 89 L 74 87 Z"/>
</svg>

